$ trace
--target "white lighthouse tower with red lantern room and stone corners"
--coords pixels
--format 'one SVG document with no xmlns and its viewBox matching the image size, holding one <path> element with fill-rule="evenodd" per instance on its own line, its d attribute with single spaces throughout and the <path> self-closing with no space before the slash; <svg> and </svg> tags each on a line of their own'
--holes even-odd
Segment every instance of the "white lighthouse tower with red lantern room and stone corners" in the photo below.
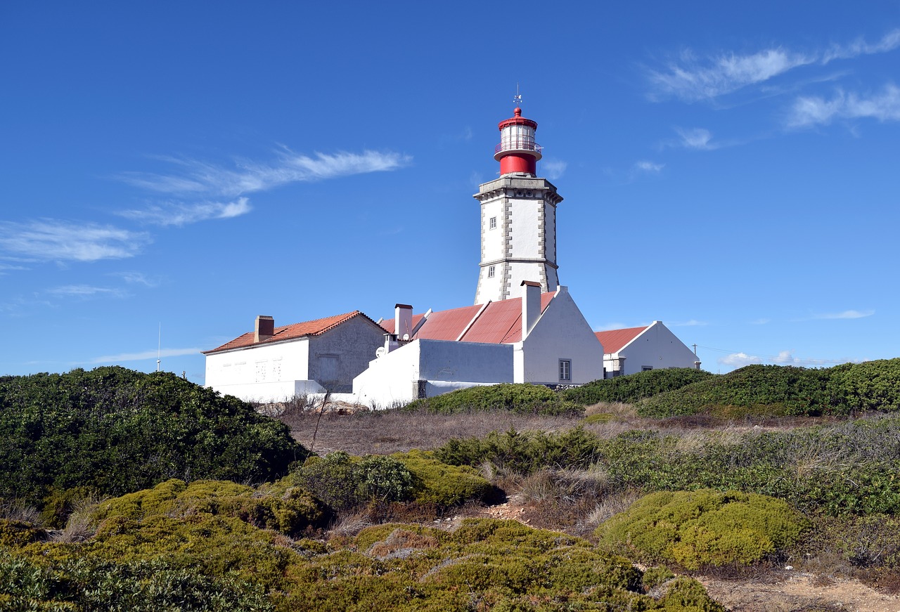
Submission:
<svg viewBox="0 0 900 612">
<path fill-rule="evenodd" d="M 554 184 L 537 176 L 542 157 L 537 122 L 523 117 L 517 107 L 499 128 L 494 159 L 500 162 L 500 178 L 479 185 L 473 195 L 482 208 L 476 304 L 518 297 L 523 281 L 539 283 L 545 293 L 559 285 L 556 205 L 563 198 Z"/>
</svg>

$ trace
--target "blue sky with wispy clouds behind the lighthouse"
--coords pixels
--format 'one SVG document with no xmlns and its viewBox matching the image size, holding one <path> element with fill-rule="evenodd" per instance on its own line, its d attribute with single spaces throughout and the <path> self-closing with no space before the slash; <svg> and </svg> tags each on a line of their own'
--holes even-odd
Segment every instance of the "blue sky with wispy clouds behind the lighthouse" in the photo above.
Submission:
<svg viewBox="0 0 900 612">
<path fill-rule="evenodd" d="M 594 329 L 898 356 L 900 2 L 7 2 L 0 53 L 0 374 L 472 303 L 517 84 Z"/>
</svg>

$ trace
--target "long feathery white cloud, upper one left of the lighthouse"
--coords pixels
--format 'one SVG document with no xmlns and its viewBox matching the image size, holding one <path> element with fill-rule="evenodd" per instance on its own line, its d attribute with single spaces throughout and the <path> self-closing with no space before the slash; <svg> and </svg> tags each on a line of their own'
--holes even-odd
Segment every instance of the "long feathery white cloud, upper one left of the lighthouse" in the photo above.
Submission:
<svg viewBox="0 0 900 612">
<path fill-rule="evenodd" d="M 308 156 L 285 147 L 273 162 L 266 164 L 236 161 L 233 166 L 226 167 L 198 159 L 164 157 L 163 161 L 178 166 L 180 171 L 173 174 L 127 173 L 120 178 L 160 193 L 236 197 L 282 184 L 396 170 L 408 166 L 411 160 L 410 156 L 390 151 L 316 153 Z"/>
</svg>

